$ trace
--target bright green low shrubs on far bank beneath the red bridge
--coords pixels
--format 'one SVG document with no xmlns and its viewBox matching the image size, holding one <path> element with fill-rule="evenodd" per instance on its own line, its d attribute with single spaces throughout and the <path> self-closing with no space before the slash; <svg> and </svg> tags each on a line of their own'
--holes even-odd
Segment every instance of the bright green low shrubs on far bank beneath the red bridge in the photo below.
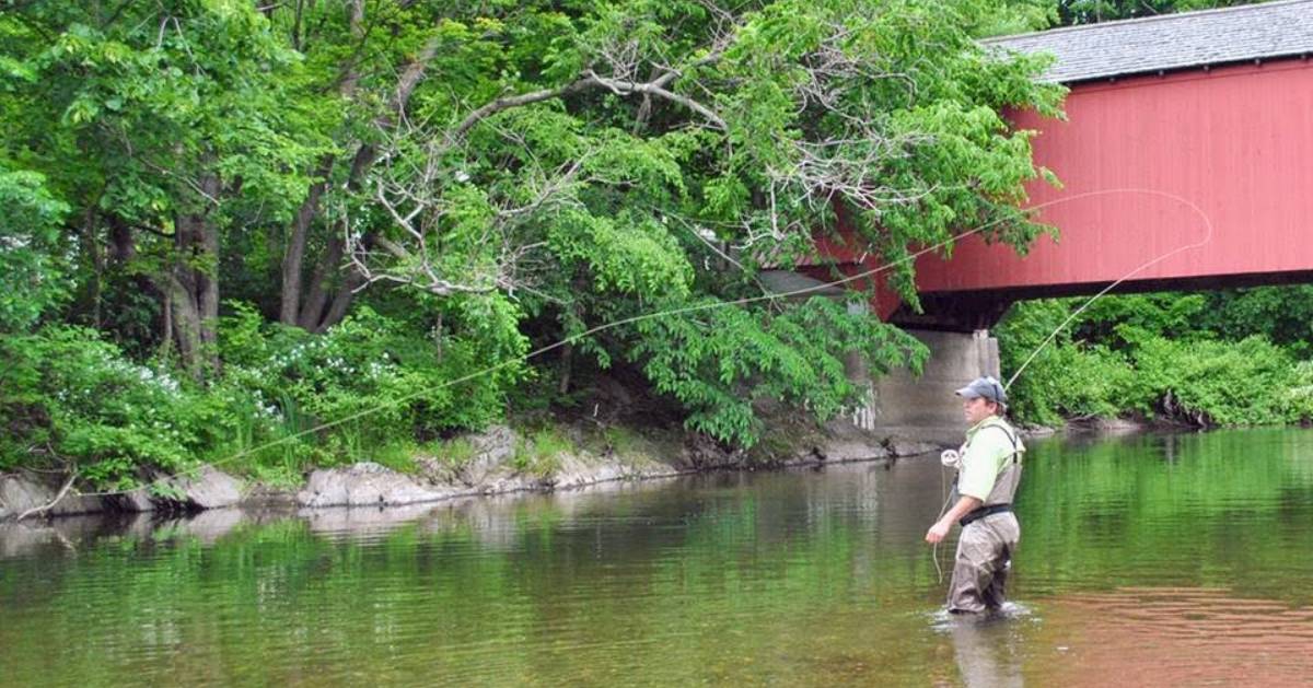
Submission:
<svg viewBox="0 0 1313 688">
<path fill-rule="evenodd" d="M 1071 330 L 1109 344 L 1073 341 L 1061 331 L 1008 390 L 1019 420 L 1162 414 L 1197 425 L 1254 425 L 1313 418 L 1313 369 L 1263 336 L 1216 341 L 1188 331 L 1186 315 L 1199 299 L 1107 301 L 1096 315 L 1108 320 L 1085 322 L 1091 309 Z M 1078 302 L 1018 305 L 997 330 L 1004 372 L 1018 369 Z"/>
</svg>

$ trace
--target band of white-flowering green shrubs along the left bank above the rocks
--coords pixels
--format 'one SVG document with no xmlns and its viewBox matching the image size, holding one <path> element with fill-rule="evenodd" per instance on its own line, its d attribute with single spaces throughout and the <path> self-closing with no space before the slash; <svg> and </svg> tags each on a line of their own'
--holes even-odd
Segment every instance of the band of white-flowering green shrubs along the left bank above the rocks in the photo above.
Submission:
<svg viewBox="0 0 1313 688">
<path fill-rule="evenodd" d="M 463 336 L 368 307 L 311 335 L 230 306 L 223 366 L 204 387 L 168 362 L 133 362 L 89 328 L 0 337 L 0 470 L 46 463 L 98 487 L 198 461 L 295 474 L 483 425 L 525 370 L 517 314 L 488 299 L 452 311 Z"/>
</svg>

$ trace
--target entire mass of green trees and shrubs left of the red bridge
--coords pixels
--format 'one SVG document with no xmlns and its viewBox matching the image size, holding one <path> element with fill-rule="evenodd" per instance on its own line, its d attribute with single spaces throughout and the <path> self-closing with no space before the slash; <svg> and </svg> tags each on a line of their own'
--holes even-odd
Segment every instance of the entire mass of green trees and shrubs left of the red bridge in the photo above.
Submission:
<svg viewBox="0 0 1313 688">
<path fill-rule="evenodd" d="M 1061 89 L 973 41 L 1037 3 L 3 7 L 4 466 L 118 484 L 291 440 L 248 460 L 295 471 L 612 365 L 750 445 L 755 402 L 826 419 L 844 356 L 923 356 L 760 270 L 840 218 L 890 259 L 1043 230 L 998 113 Z"/>
</svg>

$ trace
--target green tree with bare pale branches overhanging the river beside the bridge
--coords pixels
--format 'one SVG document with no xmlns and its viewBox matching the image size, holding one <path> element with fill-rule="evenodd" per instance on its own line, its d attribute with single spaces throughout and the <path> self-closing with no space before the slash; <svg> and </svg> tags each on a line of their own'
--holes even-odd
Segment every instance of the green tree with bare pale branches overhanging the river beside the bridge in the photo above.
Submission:
<svg viewBox="0 0 1313 688">
<path fill-rule="evenodd" d="M 756 394 L 825 418 L 855 390 L 790 365 L 798 337 L 773 331 L 839 320 L 792 302 L 706 309 L 760 297 L 756 273 L 810 260 L 815 231 L 844 226 L 889 260 L 977 223 L 1019 247 L 1041 231 L 1016 210 L 1043 172 L 1029 133 L 999 110 L 1056 114 L 1061 89 L 1032 80 L 1043 60 L 973 41 L 997 9 L 629 1 L 453 17 L 467 81 L 416 93 L 427 125 L 394 134 L 370 179 L 390 222 L 351 256 L 372 282 L 512 297 L 557 320 L 548 339 L 675 310 L 580 344 L 603 365 L 634 361 L 725 440 L 755 439 Z M 893 282 L 915 301 L 910 261 Z M 805 331 L 821 369 L 842 369 L 848 347 L 874 370 L 918 349 L 860 318 L 860 336 Z"/>
</svg>

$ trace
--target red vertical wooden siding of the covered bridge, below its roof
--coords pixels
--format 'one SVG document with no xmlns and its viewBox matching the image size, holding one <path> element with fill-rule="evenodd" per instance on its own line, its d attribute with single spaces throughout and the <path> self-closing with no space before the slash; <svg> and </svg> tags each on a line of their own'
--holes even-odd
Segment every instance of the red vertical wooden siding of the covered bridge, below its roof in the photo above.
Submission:
<svg viewBox="0 0 1313 688">
<path fill-rule="evenodd" d="M 899 309 L 888 290 L 885 318 L 945 330 L 989 327 L 1016 299 L 1092 294 L 1137 267 L 1208 238 L 1134 274 L 1119 290 L 1211 289 L 1313 281 L 1313 60 L 1196 68 L 1071 87 L 1067 119 L 1023 112 L 1037 130 L 1036 164 L 1062 181 L 1028 186 L 1032 205 L 1060 236 L 1027 256 L 978 238 L 952 260 L 923 256 L 916 282 L 927 314 Z M 1124 192 L 1109 193 L 1117 189 Z M 1099 192 L 1094 196 L 1085 196 Z M 836 251 L 855 273 L 880 257 Z M 819 276 L 819 273 L 818 273 Z"/>
</svg>

